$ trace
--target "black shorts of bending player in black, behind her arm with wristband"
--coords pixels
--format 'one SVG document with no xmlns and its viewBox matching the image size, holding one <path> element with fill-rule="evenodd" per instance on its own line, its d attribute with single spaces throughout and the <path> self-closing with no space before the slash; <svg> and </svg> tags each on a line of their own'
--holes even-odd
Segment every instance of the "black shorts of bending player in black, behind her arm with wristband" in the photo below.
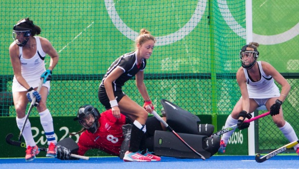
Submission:
<svg viewBox="0 0 299 169">
<path fill-rule="evenodd" d="M 125 96 L 126 94 L 122 91 L 116 91 L 116 92 L 113 92 L 114 93 L 114 96 L 116 98 L 116 101 L 119 103 L 120 100 L 122 99 L 123 96 Z M 110 109 L 111 108 L 111 105 L 110 105 L 110 100 L 107 96 L 107 93 L 106 93 L 106 90 L 105 88 L 99 88 L 98 90 L 98 98 L 100 100 L 100 102 L 102 103 L 102 105 L 105 106 L 106 110 Z"/>
</svg>

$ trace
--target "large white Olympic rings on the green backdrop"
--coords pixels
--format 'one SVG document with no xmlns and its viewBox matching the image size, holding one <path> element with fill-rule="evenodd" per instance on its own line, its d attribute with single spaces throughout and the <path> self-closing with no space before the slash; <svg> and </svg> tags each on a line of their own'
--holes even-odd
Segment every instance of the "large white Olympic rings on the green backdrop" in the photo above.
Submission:
<svg viewBox="0 0 299 169">
<path fill-rule="evenodd" d="M 217 0 L 217 2 L 218 2 L 218 7 L 220 9 L 221 15 L 223 16 L 226 24 L 238 36 L 240 36 L 243 39 L 246 39 L 246 30 L 235 20 L 233 15 L 230 13 L 226 0 Z M 110 16 L 115 27 L 127 38 L 134 41 L 139 33 L 129 28 L 121 20 L 120 16 L 118 15 L 115 9 L 114 4 L 115 3 L 113 2 L 113 0 L 105 0 L 105 7 L 108 12 L 108 15 Z M 201 17 L 205 12 L 206 5 L 207 5 L 207 0 L 198 0 L 196 9 L 194 11 L 194 14 L 190 18 L 190 20 L 181 29 L 179 29 L 179 31 L 176 31 L 174 33 L 165 36 L 155 37 L 157 40 L 156 46 L 164 46 L 164 45 L 169 45 L 174 42 L 177 42 L 183 39 L 191 31 L 193 31 L 194 28 L 197 26 L 197 24 L 200 22 Z M 258 41 L 259 44 L 262 45 L 280 44 L 296 37 L 299 34 L 298 30 L 299 30 L 299 23 L 296 24 L 290 30 L 276 35 L 259 35 L 253 33 L 253 39 L 254 41 Z"/>
</svg>

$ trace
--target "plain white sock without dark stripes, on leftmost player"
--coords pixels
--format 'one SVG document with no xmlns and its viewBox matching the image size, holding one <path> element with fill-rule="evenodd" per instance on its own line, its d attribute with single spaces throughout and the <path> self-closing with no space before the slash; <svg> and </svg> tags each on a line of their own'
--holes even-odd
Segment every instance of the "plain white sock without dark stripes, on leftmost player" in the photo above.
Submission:
<svg viewBox="0 0 299 169">
<path fill-rule="evenodd" d="M 22 119 L 19 119 L 16 117 L 16 125 L 20 129 L 20 131 L 22 130 L 25 119 L 26 119 L 26 116 L 23 117 Z M 29 119 L 27 120 L 26 125 L 24 126 L 22 137 L 25 139 L 26 147 L 27 146 L 31 146 L 31 147 L 36 146 L 35 141 L 32 136 L 31 124 L 29 122 Z"/>
</svg>

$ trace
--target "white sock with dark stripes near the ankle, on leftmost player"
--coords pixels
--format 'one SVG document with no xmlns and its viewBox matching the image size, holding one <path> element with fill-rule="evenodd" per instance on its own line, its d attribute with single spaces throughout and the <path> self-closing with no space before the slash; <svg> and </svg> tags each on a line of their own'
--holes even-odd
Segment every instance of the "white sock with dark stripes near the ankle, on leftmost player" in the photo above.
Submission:
<svg viewBox="0 0 299 169">
<path fill-rule="evenodd" d="M 54 127 L 53 127 L 53 119 L 52 115 L 49 111 L 49 109 L 46 109 L 43 112 L 39 113 L 41 124 L 45 131 L 45 137 L 47 138 L 48 145 L 50 145 L 50 142 L 53 142 L 54 144 L 57 144 L 57 141 L 55 139 L 54 135 Z"/>
</svg>

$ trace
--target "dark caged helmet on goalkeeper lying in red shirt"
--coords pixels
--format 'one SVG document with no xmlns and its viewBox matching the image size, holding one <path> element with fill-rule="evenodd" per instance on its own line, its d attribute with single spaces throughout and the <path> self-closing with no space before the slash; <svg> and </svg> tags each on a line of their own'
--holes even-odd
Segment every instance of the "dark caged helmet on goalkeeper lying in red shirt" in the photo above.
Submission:
<svg viewBox="0 0 299 169">
<path fill-rule="evenodd" d="M 99 118 L 101 117 L 97 108 L 91 105 L 84 105 L 79 108 L 77 117 L 79 124 L 86 128 L 89 132 L 95 133 L 99 127 Z"/>
</svg>

